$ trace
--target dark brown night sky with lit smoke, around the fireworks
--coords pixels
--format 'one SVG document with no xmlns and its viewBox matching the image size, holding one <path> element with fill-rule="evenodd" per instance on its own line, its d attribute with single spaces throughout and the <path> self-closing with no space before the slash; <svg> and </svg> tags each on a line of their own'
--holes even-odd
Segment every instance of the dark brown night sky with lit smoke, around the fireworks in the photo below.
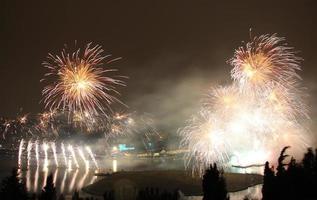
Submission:
<svg viewBox="0 0 317 200">
<path fill-rule="evenodd" d="M 130 78 L 119 88 L 131 110 L 147 112 L 175 130 L 203 92 L 230 83 L 226 61 L 253 35 L 278 33 L 304 58 L 312 118 L 317 100 L 317 4 L 301 1 L 21 1 L 1 0 L 0 115 L 36 113 L 41 66 L 63 45 L 93 42 L 123 57 L 114 67 Z"/>
</svg>

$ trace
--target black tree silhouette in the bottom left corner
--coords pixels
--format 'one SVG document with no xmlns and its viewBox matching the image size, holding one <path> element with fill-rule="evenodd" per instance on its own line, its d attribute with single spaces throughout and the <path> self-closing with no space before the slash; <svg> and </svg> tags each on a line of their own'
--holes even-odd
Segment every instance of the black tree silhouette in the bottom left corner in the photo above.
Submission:
<svg viewBox="0 0 317 200">
<path fill-rule="evenodd" d="M 24 200 L 28 199 L 25 182 L 19 178 L 17 169 L 13 169 L 11 176 L 1 182 L 1 200 Z"/>
</svg>

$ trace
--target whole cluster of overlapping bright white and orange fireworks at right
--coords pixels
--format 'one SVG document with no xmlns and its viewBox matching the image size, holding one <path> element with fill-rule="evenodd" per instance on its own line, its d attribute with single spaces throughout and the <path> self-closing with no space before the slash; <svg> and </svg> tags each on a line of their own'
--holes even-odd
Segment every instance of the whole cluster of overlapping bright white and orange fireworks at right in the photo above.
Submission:
<svg viewBox="0 0 317 200">
<path fill-rule="evenodd" d="M 284 38 L 263 35 L 236 50 L 233 83 L 213 88 L 200 111 L 179 130 L 185 164 L 202 175 L 209 164 L 264 163 L 272 149 L 307 146 L 307 106 L 300 87 L 300 58 Z M 297 151 L 300 152 L 300 151 Z"/>
</svg>

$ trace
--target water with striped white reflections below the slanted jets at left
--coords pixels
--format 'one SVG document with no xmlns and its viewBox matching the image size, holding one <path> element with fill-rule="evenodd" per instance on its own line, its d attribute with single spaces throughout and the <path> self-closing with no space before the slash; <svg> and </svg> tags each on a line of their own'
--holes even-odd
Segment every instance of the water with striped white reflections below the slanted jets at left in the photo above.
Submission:
<svg viewBox="0 0 317 200">
<path fill-rule="evenodd" d="M 29 159 L 34 162 L 29 162 Z M 87 165 L 87 163 L 89 163 L 88 161 L 78 162 L 79 168 L 77 168 L 75 161 L 71 158 L 68 159 L 67 165 L 60 165 L 60 167 L 57 167 L 54 160 L 48 159 L 45 154 L 42 159 L 40 158 L 39 160 L 35 160 L 33 157 L 29 157 L 29 159 L 22 159 L 22 161 L 18 163 L 21 167 L 18 169 L 18 172 L 19 176 L 25 180 L 27 190 L 32 193 L 41 192 L 46 185 L 46 180 L 49 175 L 53 176 L 53 182 L 58 193 L 72 194 L 75 190 L 81 190 L 83 187 L 94 183 L 98 179 L 98 177 L 95 176 L 96 172 L 111 173 L 121 170 L 141 171 L 166 168 L 180 169 L 183 167 L 181 162 L 170 162 L 169 159 L 152 160 L 108 157 L 100 158 L 96 161 L 102 166 L 101 169 L 96 170 L 93 166 L 89 168 L 89 164 Z M 28 165 L 28 163 L 31 165 Z"/>
</svg>

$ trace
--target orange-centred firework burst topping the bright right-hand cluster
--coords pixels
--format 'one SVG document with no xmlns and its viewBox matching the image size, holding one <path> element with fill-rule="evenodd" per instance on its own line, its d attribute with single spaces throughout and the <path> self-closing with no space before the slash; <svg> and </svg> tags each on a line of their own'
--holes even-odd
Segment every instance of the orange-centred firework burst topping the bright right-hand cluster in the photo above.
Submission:
<svg viewBox="0 0 317 200">
<path fill-rule="evenodd" d="M 259 91 L 272 82 L 291 87 L 300 79 L 300 60 L 284 38 L 262 35 L 235 51 L 231 77 L 246 89 L 253 86 Z"/>
</svg>

